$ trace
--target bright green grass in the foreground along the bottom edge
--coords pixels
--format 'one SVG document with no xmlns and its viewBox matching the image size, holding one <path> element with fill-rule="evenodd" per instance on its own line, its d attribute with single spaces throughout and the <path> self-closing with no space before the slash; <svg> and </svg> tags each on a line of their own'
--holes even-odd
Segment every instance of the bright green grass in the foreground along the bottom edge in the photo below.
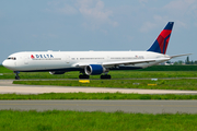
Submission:
<svg viewBox="0 0 197 131">
<path fill-rule="evenodd" d="M 196 131 L 197 115 L 1 110 L 1 131 Z"/>
</svg>

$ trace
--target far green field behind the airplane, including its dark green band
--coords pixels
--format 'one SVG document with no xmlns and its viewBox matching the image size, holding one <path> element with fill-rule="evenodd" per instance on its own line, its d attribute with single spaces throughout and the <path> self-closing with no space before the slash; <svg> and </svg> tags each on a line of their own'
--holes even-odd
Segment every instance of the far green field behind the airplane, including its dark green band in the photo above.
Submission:
<svg viewBox="0 0 197 131">
<path fill-rule="evenodd" d="M 14 73 L 0 66 L 0 79 L 14 79 Z M 109 71 L 112 79 L 139 79 L 139 78 L 197 78 L 197 66 L 154 66 L 142 70 Z M 21 72 L 21 79 L 78 79 L 79 72 L 66 72 L 51 75 L 48 72 Z M 100 79 L 100 75 L 91 75 Z"/>
</svg>

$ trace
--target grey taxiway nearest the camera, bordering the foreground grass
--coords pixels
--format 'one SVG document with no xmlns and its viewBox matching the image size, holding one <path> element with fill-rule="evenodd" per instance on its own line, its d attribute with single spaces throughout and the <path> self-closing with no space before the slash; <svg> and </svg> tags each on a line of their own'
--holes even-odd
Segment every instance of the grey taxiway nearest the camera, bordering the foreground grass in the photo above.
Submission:
<svg viewBox="0 0 197 131">
<path fill-rule="evenodd" d="M 0 110 L 197 114 L 197 100 L 0 100 Z"/>
</svg>

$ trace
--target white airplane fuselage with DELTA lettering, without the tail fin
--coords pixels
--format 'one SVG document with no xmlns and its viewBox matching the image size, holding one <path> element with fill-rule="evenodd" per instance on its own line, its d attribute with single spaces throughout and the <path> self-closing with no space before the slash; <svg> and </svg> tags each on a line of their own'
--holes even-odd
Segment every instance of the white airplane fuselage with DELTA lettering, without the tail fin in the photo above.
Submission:
<svg viewBox="0 0 197 131">
<path fill-rule="evenodd" d="M 105 62 L 121 62 L 146 59 L 169 58 L 167 55 L 152 51 L 24 51 L 10 55 L 3 66 L 13 71 L 73 71 L 80 66 L 103 64 Z M 118 64 L 118 67 L 147 68 L 166 60 L 154 62 Z M 116 64 L 104 66 L 115 68 Z"/>
</svg>

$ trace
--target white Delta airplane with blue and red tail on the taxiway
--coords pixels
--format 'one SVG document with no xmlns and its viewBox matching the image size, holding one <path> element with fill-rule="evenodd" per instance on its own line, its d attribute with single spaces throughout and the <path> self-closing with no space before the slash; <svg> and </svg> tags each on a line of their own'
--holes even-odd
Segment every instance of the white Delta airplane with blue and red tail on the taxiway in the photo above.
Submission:
<svg viewBox="0 0 197 131">
<path fill-rule="evenodd" d="M 20 72 L 63 74 L 69 71 L 80 71 L 79 79 L 90 75 L 111 79 L 109 70 L 143 69 L 190 55 L 165 55 L 173 25 L 174 22 L 169 22 L 147 51 L 22 51 L 10 55 L 2 66 L 14 71 L 15 80 L 20 80 Z"/>
</svg>

